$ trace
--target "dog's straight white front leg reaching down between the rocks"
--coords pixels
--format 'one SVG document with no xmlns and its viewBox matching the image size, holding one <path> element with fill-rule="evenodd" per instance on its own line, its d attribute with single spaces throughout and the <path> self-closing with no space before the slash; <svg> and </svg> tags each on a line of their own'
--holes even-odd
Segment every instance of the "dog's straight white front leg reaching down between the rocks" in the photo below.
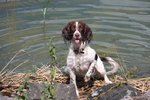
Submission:
<svg viewBox="0 0 150 100">
<path fill-rule="evenodd" d="M 76 75 L 71 70 L 71 68 L 68 68 L 68 72 L 69 72 L 69 75 L 70 75 L 70 84 L 74 85 L 73 87 L 75 87 L 76 95 L 79 98 L 79 92 L 78 92 L 78 88 L 77 88 L 77 84 L 76 84 Z"/>
</svg>

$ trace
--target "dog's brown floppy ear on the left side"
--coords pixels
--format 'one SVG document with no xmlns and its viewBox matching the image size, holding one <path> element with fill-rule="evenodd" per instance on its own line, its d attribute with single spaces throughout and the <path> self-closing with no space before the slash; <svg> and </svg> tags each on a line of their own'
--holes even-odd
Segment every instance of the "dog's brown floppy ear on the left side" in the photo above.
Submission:
<svg viewBox="0 0 150 100">
<path fill-rule="evenodd" d="M 72 39 L 71 24 L 72 22 L 69 22 L 62 30 L 62 36 L 65 41 L 70 41 Z"/>
</svg>

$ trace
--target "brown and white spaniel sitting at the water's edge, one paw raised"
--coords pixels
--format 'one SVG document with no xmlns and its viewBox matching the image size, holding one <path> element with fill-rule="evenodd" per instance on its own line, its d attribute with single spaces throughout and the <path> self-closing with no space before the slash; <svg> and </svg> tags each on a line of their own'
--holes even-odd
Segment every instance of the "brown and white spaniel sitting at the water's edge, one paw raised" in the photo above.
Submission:
<svg viewBox="0 0 150 100">
<path fill-rule="evenodd" d="M 94 75 L 103 77 L 106 84 L 112 83 L 107 75 L 115 73 L 119 64 L 111 57 L 100 58 L 95 50 L 89 46 L 93 36 L 89 26 L 82 21 L 71 21 L 63 28 L 62 36 L 65 41 L 70 42 L 66 69 L 70 75 L 70 82 L 75 85 L 78 97 L 77 76 L 84 77 L 85 82 L 89 81 L 90 77 Z M 111 71 L 106 72 L 103 60 L 111 65 Z"/>
</svg>

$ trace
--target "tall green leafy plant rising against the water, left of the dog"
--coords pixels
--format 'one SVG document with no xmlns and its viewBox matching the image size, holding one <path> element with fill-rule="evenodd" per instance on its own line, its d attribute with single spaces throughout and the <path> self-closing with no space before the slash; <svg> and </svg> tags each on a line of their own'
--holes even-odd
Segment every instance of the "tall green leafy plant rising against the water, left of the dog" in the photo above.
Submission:
<svg viewBox="0 0 150 100">
<path fill-rule="evenodd" d="M 56 56 L 56 48 L 53 45 L 52 41 L 55 37 L 51 37 L 49 41 L 49 55 L 51 58 L 50 64 L 50 78 L 51 81 L 45 84 L 44 89 L 41 92 L 41 100 L 54 100 L 56 98 L 56 91 L 54 85 L 54 79 L 56 76 L 56 65 L 57 65 L 57 56 Z"/>
</svg>

